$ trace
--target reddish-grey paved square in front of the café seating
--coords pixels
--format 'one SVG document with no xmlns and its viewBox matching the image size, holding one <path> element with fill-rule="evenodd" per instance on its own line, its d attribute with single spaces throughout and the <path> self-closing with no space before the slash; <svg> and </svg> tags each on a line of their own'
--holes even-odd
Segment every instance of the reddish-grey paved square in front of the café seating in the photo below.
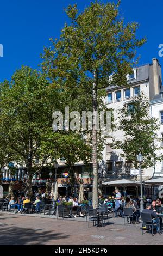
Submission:
<svg viewBox="0 0 163 256">
<path fill-rule="evenodd" d="M 0 245 L 163 245 L 163 235 L 141 235 L 140 225 L 110 218 L 105 227 L 87 222 L 0 213 Z"/>
</svg>

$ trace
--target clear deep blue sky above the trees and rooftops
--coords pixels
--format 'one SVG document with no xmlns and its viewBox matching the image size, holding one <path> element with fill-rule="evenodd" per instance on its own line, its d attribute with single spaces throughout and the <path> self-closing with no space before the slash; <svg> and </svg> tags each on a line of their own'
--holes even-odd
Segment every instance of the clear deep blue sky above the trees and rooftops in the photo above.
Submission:
<svg viewBox="0 0 163 256">
<path fill-rule="evenodd" d="M 147 36 L 147 43 L 138 50 L 141 54 L 140 64 L 150 63 L 156 57 L 163 68 L 163 57 L 158 55 L 158 45 L 163 44 L 163 1 L 121 2 L 121 13 L 126 22 L 139 22 L 137 35 L 139 38 Z M 10 80 L 21 65 L 37 68 L 43 46 L 50 45 L 48 39 L 59 38 L 67 20 L 64 8 L 74 3 L 83 10 L 90 0 L 0 0 L 0 44 L 4 47 L 4 57 L 0 57 L 0 82 Z"/>
</svg>

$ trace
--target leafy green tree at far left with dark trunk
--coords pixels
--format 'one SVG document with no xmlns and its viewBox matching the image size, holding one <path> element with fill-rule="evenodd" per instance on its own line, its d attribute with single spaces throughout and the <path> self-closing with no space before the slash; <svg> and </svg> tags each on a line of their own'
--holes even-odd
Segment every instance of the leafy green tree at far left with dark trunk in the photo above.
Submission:
<svg viewBox="0 0 163 256">
<path fill-rule="evenodd" d="M 35 159 L 40 155 L 41 139 L 47 126 L 52 124 L 55 101 L 49 101 L 49 98 L 55 99 L 56 94 L 45 77 L 28 67 L 17 70 L 11 82 L 1 84 L 0 135 L 5 143 L 1 147 L 7 147 L 4 155 L 14 153 L 17 163 L 26 164 L 29 191 Z M 56 107 L 55 103 L 53 108 Z M 43 159 L 47 157 L 47 154 L 43 155 Z"/>
</svg>

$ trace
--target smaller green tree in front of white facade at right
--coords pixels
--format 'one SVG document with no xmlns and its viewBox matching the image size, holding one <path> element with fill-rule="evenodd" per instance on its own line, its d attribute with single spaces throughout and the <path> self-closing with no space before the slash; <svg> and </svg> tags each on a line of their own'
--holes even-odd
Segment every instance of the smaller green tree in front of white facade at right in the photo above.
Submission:
<svg viewBox="0 0 163 256">
<path fill-rule="evenodd" d="M 113 147 L 122 149 L 121 154 L 128 161 L 133 161 L 137 168 L 137 155 L 144 157 L 142 167 L 152 167 L 156 161 L 163 160 L 159 154 L 160 139 L 158 120 L 149 115 L 149 100 L 142 93 L 118 109 L 117 130 L 124 132 L 121 141 L 114 138 Z"/>
</svg>

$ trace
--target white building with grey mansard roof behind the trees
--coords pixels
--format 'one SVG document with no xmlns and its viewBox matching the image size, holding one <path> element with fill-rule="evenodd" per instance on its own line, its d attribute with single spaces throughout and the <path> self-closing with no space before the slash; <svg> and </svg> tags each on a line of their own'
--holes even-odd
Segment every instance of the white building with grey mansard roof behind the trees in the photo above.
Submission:
<svg viewBox="0 0 163 256">
<path fill-rule="evenodd" d="M 117 109 L 123 107 L 134 96 L 143 92 L 151 101 L 156 95 L 159 95 L 162 77 L 161 66 L 156 58 L 152 60 L 151 64 L 139 66 L 133 70 L 133 74 L 128 76 L 128 84 L 121 87 L 108 87 L 106 89 L 106 105 L 108 109 L 114 109 L 114 119 L 117 121 Z M 163 100 L 162 100 L 163 102 Z M 150 109 L 149 109 L 150 111 Z M 163 134 L 163 105 L 162 105 L 162 134 Z M 113 150 L 110 147 L 112 137 L 118 140 L 123 139 L 124 133 L 116 131 L 110 134 L 105 140 L 105 148 L 103 151 L 103 181 L 109 179 L 116 179 L 118 176 L 130 176 L 130 169 L 133 168 L 131 162 L 126 161 L 120 156 L 121 150 Z M 143 170 L 143 180 L 152 178 L 153 168 Z M 139 176 L 137 177 L 139 179 Z"/>
</svg>

